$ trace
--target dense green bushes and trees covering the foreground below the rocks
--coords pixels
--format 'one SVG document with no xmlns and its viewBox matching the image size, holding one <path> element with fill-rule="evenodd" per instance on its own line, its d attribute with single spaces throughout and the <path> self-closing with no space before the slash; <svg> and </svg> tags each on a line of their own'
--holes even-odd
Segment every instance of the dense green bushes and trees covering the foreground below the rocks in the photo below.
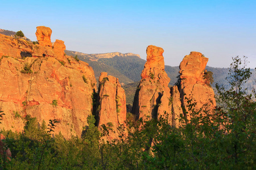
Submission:
<svg viewBox="0 0 256 170">
<path fill-rule="evenodd" d="M 1 157 L 1 169 L 255 169 L 255 91 L 242 88 L 251 73 L 236 57 L 230 67 L 231 88 L 218 87 L 217 107 L 197 110 L 189 98 L 191 120 L 180 117 L 174 128 L 166 117 L 134 120 L 129 114 L 128 135 L 104 142 L 94 116 L 82 137 L 65 139 L 52 135 L 56 121 L 39 125 L 27 117 L 22 133 L 3 130 L 12 152 L 11 161 Z M 4 116 L 4 115 L 3 115 Z M 167 115 L 166 115 L 167 116 Z M 120 127 L 122 132 L 124 126 Z"/>
</svg>

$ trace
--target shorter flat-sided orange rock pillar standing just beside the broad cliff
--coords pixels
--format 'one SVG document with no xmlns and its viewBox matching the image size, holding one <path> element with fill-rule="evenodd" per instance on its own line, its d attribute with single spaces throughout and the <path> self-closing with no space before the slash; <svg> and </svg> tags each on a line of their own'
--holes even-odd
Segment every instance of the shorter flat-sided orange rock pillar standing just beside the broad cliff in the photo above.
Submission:
<svg viewBox="0 0 256 170">
<path fill-rule="evenodd" d="M 125 125 L 126 121 L 125 90 L 121 87 L 118 78 L 105 72 L 101 73 L 99 83 L 98 126 L 100 128 L 104 124 L 110 129 L 109 136 L 105 137 L 106 140 L 118 139 L 120 131 L 117 128 Z"/>
</svg>

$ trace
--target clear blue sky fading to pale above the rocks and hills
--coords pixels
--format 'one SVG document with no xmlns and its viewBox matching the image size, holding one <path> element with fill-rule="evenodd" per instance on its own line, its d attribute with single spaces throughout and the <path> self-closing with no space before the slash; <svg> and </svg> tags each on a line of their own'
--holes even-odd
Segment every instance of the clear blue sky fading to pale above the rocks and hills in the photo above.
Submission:
<svg viewBox="0 0 256 170">
<path fill-rule="evenodd" d="M 208 66 L 229 67 L 246 56 L 256 67 L 256 1 L 3 1 L 0 28 L 22 30 L 36 41 L 36 27 L 52 29 L 51 40 L 67 50 L 135 53 L 146 59 L 148 45 L 164 49 L 166 65 L 179 66 L 191 51 Z"/>
</svg>

